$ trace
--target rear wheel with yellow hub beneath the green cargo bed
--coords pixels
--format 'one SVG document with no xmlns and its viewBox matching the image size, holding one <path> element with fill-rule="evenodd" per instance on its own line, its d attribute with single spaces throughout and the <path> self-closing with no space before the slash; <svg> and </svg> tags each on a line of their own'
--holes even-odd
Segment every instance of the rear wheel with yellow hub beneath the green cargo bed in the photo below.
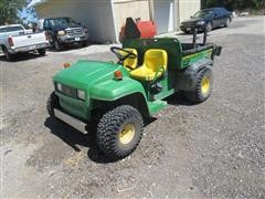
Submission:
<svg viewBox="0 0 265 199">
<path fill-rule="evenodd" d="M 201 103 L 206 101 L 212 93 L 212 70 L 204 67 L 195 76 L 195 91 L 184 92 L 188 101 Z"/>
</svg>

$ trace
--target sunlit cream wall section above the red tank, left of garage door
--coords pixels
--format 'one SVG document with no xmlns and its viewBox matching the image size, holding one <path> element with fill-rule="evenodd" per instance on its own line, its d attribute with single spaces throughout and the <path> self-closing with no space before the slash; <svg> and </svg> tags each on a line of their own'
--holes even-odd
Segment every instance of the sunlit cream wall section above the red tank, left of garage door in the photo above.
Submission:
<svg viewBox="0 0 265 199">
<path fill-rule="evenodd" d="M 120 28 L 126 23 L 126 18 L 150 20 L 149 0 L 113 0 L 113 3 L 118 34 Z"/>
</svg>

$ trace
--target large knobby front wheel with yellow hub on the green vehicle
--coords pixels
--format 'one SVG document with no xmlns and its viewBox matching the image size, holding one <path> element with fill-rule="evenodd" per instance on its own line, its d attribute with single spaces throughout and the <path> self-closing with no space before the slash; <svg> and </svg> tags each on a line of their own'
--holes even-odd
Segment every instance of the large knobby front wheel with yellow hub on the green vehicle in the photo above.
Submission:
<svg viewBox="0 0 265 199">
<path fill-rule="evenodd" d="M 109 158 L 121 159 L 130 155 L 142 136 L 141 114 L 129 105 L 107 112 L 97 126 L 97 145 Z"/>
</svg>

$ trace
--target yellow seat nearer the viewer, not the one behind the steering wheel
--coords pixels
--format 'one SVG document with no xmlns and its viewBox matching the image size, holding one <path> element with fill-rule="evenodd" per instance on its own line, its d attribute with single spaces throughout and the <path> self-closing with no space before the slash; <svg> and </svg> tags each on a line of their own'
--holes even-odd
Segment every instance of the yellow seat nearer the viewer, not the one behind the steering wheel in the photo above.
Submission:
<svg viewBox="0 0 265 199">
<path fill-rule="evenodd" d="M 144 64 L 130 72 L 137 80 L 153 81 L 167 70 L 168 54 L 165 50 L 150 49 L 145 53 Z"/>
</svg>

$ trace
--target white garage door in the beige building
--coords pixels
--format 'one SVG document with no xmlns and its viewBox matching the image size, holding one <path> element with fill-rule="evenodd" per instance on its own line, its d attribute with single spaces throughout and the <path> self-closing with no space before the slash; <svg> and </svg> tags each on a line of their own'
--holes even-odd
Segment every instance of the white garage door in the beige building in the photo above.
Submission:
<svg viewBox="0 0 265 199">
<path fill-rule="evenodd" d="M 174 31 L 174 0 L 153 0 L 153 19 L 158 33 Z"/>
</svg>

